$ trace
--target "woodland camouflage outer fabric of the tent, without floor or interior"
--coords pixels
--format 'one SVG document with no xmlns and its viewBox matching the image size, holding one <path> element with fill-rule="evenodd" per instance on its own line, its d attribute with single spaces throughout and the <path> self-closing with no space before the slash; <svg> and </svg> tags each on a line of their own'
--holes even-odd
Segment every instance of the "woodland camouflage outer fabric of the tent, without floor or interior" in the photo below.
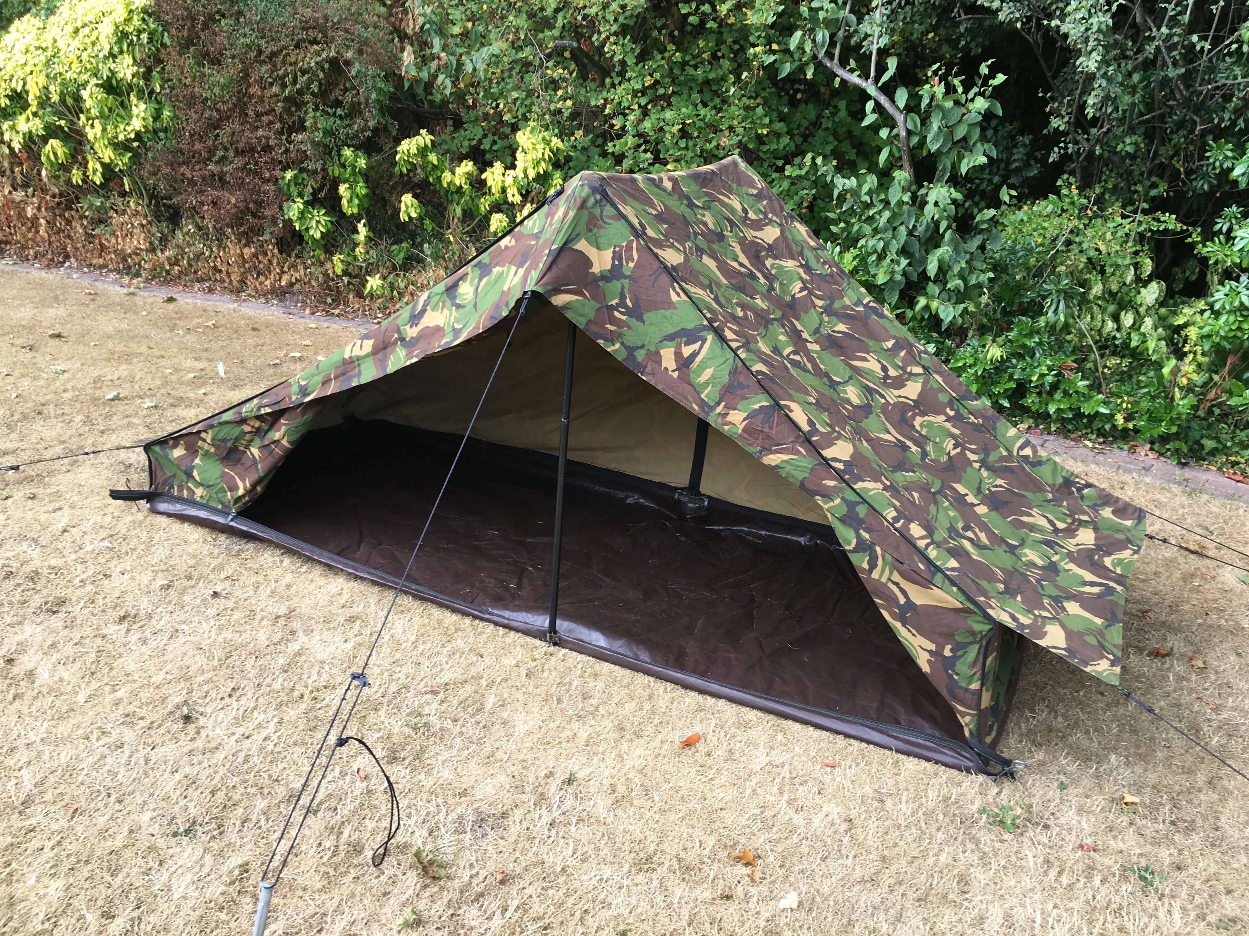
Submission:
<svg viewBox="0 0 1249 936">
<path fill-rule="evenodd" d="M 242 509 L 328 396 L 481 333 L 526 292 L 818 500 L 969 736 L 994 734 L 1014 633 L 1118 683 L 1144 513 L 970 393 L 736 157 L 576 176 L 347 347 L 150 443 L 152 488 Z"/>
</svg>

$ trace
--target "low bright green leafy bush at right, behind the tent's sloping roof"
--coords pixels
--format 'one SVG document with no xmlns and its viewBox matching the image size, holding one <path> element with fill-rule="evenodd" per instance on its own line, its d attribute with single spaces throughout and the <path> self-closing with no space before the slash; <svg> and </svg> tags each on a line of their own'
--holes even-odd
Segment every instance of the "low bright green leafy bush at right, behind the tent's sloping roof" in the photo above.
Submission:
<svg viewBox="0 0 1249 936">
<path fill-rule="evenodd" d="M 1069 182 L 1003 220 L 989 251 L 993 290 L 969 333 L 922 332 L 977 393 L 1015 418 L 1095 437 L 1140 439 L 1185 459 L 1240 464 L 1249 448 L 1245 362 L 1249 228 L 1203 245 L 1227 273 L 1209 300 L 1168 302 L 1153 235 L 1170 215 L 1098 206 Z"/>
</svg>

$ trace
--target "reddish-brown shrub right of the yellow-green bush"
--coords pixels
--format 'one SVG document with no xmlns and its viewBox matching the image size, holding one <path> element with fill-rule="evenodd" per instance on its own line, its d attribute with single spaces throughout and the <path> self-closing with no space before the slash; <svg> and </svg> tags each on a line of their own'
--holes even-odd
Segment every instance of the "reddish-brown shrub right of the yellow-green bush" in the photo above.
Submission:
<svg viewBox="0 0 1249 936">
<path fill-rule="evenodd" d="M 282 233 L 282 173 L 330 182 L 343 146 L 393 145 L 397 69 L 385 7 L 368 0 L 155 0 L 172 134 L 145 175 L 189 216 Z"/>
</svg>

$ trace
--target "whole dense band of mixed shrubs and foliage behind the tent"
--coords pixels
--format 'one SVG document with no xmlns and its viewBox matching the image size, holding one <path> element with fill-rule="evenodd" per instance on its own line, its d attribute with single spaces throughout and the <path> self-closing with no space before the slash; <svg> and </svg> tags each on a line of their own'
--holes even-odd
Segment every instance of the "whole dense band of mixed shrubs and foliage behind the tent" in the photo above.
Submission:
<svg viewBox="0 0 1249 936">
<path fill-rule="evenodd" d="M 738 154 L 1017 421 L 1249 452 L 1243 4 L 144 1 L 0 0 L 11 248 L 381 310 L 573 172 Z"/>
</svg>

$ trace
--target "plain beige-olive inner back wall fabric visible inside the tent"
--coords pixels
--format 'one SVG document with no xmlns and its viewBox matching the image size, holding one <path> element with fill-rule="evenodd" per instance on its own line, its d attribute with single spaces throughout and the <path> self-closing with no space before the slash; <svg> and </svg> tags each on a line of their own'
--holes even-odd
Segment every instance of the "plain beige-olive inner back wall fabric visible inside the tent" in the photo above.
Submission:
<svg viewBox="0 0 1249 936">
<path fill-rule="evenodd" d="M 472 436 L 553 454 L 560 451 L 568 319 L 546 303 L 533 312 L 536 305 L 516 329 Z M 463 433 L 511 323 L 508 317 L 473 341 L 336 394 L 313 428 L 356 417 Z M 568 458 L 684 487 L 697 417 L 581 331 L 575 361 Z M 708 434 L 701 489 L 757 510 L 828 523 L 814 499 L 721 432 Z"/>
</svg>

